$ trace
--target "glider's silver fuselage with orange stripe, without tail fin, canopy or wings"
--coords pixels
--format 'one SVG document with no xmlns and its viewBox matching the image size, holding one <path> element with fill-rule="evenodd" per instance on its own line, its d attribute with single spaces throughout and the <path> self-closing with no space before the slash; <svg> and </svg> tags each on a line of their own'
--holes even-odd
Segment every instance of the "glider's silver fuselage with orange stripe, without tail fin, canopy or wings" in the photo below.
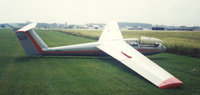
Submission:
<svg viewBox="0 0 200 95">
<path fill-rule="evenodd" d="M 60 47 L 49 47 L 43 49 L 38 55 L 61 55 L 61 56 L 105 56 L 107 55 L 100 49 L 96 48 L 101 45 L 102 42 L 85 43 L 78 45 L 60 46 Z M 132 46 L 140 53 L 144 55 L 152 55 L 164 52 L 165 46 L 162 47 L 151 47 L 151 46 Z"/>
</svg>

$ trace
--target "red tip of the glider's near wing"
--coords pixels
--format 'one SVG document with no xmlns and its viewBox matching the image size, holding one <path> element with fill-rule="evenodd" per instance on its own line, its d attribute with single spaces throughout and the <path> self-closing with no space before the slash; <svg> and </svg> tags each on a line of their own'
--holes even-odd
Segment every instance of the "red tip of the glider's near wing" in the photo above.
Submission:
<svg viewBox="0 0 200 95">
<path fill-rule="evenodd" d="M 175 77 L 169 78 L 163 81 L 158 87 L 160 89 L 174 89 L 180 87 L 183 84 L 180 80 Z"/>
</svg>

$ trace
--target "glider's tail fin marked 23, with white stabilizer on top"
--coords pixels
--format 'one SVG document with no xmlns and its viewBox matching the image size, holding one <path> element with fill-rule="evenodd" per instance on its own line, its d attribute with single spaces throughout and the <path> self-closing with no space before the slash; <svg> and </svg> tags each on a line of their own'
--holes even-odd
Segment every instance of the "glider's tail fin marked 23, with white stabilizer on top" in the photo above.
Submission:
<svg viewBox="0 0 200 95">
<path fill-rule="evenodd" d="M 15 34 L 27 55 L 39 55 L 43 53 L 44 49 L 48 48 L 44 41 L 33 30 L 35 26 L 36 23 L 31 23 L 15 31 Z"/>
</svg>

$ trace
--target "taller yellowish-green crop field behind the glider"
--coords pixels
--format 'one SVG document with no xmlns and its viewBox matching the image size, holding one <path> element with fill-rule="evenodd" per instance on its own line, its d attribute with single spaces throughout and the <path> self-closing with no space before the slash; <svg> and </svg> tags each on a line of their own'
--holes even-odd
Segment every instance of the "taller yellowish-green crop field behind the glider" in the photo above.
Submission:
<svg viewBox="0 0 200 95">
<path fill-rule="evenodd" d="M 70 35 L 98 40 L 102 30 L 56 30 Z M 200 58 L 200 32 L 122 31 L 124 38 L 153 37 L 163 40 L 166 52 Z"/>
</svg>

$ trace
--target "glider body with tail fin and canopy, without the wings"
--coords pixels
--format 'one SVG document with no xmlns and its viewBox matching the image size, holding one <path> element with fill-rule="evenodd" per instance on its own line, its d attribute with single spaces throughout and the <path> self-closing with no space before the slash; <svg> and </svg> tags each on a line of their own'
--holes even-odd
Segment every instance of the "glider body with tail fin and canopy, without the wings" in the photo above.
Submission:
<svg viewBox="0 0 200 95">
<path fill-rule="evenodd" d="M 42 55 L 42 56 L 105 56 L 105 52 L 101 51 L 97 46 L 104 43 L 92 42 L 76 45 L 48 47 L 39 35 L 33 30 L 27 32 L 17 31 L 16 35 L 22 44 L 27 55 Z M 145 42 L 146 40 L 146 42 Z M 110 40 L 113 41 L 113 40 Z M 148 41 L 151 45 L 148 45 Z M 108 42 L 108 41 L 107 41 Z M 141 37 L 141 41 L 137 38 L 124 39 L 124 42 L 142 53 L 143 55 L 153 55 L 162 53 L 166 50 L 163 42 L 156 38 Z M 153 45 L 152 45 L 153 42 Z M 158 44 L 155 44 L 159 42 Z M 145 45 L 143 45 L 145 43 Z M 154 45 L 155 44 L 155 45 Z"/>
</svg>

